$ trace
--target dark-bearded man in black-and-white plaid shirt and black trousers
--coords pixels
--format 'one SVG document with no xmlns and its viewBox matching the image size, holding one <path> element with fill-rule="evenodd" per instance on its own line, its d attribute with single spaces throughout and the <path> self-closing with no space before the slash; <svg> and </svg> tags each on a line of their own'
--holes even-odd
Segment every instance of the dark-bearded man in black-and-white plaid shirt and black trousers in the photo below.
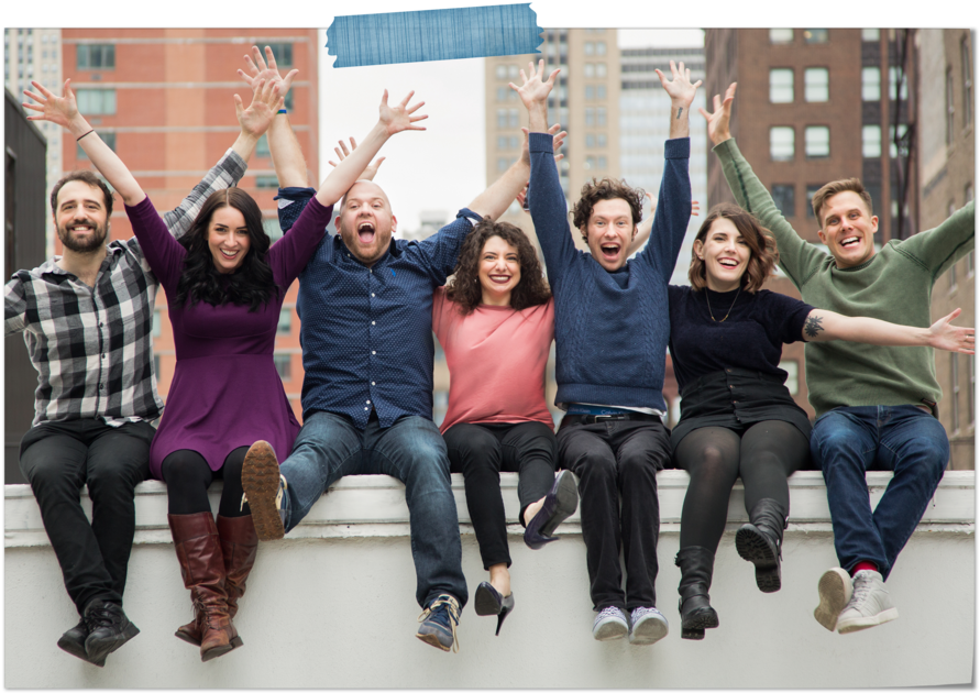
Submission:
<svg viewBox="0 0 980 693">
<path fill-rule="evenodd" d="M 271 119 L 243 109 L 232 148 L 164 216 L 175 237 L 190 228 L 212 193 L 244 175 Z M 89 130 L 81 136 L 98 135 Z M 81 616 L 58 647 L 102 667 L 139 634 L 122 609 L 122 594 L 135 486 L 147 475 L 150 421 L 163 407 L 151 350 L 158 284 L 135 239 L 106 244 L 112 193 L 96 174 L 75 170 L 58 180 L 51 208 L 64 254 L 16 272 L 3 287 L 3 337 L 23 332 L 37 371 L 20 466 Z M 91 524 L 79 501 L 86 484 Z"/>
</svg>

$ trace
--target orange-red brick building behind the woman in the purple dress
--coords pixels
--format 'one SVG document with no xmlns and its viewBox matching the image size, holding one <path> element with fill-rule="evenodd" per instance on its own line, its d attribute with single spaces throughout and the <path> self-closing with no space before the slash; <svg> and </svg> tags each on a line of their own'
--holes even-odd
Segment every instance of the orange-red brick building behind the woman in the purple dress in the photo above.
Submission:
<svg viewBox="0 0 980 693">
<path fill-rule="evenodd" d="M 79 110 L 135 175 L 159 210 L 173 209 L 231 146 L 240 131 L 233 95 L 247 105 L 249 87 L 236 69 L 252 45 L 271 45 L 280 68 L 299 69 L 286 99 L 306 155 L 309 179 L 319 180 L 318 35 L 316 29 L 64 29 L 62 70 L 73 78 Z M 64 169 L 89 168 L 81 148 L 65 138 Z M 265 138 L 240 186 L 258 202 L 275 240 L 278 183 Z M 132 227 L 117 206 L 111 239 Z M 56 243 L 59 253 L 60 243 Z M 275 362 L 297 418 L 301 416 L 302 354 L 296 316 L 296 283 L 286 294 Z M 166 296 L 157 294 L 155 373 L 161 395 L 173 380 L 176 355 Z"/>
</svg>

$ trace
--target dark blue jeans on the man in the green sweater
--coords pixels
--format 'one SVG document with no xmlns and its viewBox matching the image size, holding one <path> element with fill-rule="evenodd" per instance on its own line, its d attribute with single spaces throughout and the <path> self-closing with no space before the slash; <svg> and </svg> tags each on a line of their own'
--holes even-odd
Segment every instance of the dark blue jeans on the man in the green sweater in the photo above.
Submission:
<svg viewBox="0 0 980 693">
<path fill-rule="evenodd" d="M 817 419 L 810 448 L 827 484 L 840 566 L 871 561 L 887 580 L 943 479 L 946 429 L 912 405 L 838 407 Z M 872 470 L 894 472 L 873 513 L 865 477 Z"/>
</svg>

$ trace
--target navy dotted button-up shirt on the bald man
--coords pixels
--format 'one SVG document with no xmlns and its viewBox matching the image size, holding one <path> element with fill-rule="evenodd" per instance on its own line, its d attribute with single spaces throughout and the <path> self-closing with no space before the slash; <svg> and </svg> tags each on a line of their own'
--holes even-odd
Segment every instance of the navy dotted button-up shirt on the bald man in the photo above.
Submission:
<svg viewBox="0 0 980 693">
<path fill-rule="evenodd" d="M 288 231 L 316 195 L 280 188 L 279 226 Z M 392 240 L 371 267 L 328 230 L 299 275 L 302 416 L 351 417 L 363 430 L 371 409 L 382 428 L 403 416 L 432 418 L 432 292 L 455 268 L 480 220 L 469 209 L 423 241 Z"/>
</svg>

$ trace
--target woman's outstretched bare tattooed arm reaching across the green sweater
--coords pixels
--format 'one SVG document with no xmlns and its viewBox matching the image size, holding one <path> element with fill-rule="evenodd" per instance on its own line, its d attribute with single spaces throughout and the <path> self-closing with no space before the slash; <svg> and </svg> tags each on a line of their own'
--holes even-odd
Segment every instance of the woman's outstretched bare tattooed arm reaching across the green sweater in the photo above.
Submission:
<svg viewBox="0 0 980 693">
<path fill-rule="evenodd" d="M 815 309 L 803 323 L 803 339 L 807 342 L 846 340 L 879 346 L 932 346 L 962 354 L 976 353 L 977 331 L 951 324 L 960 314 L 957 308 L 929 328 L 895 324 L 874 318 L 851 318 L 832 310 Z"/>
</svg>

